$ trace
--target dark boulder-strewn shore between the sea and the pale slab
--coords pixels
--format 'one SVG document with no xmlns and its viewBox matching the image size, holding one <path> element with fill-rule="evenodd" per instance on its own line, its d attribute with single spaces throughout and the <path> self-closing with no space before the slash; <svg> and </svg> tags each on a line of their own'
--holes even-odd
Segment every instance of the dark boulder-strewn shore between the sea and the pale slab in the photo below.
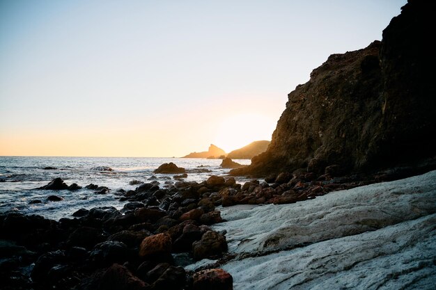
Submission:
<svg viewBox="0 0 436 290">
<path fill-rule="evenodd" d="M 80 209 L 72 218 L 59 221 L 1 214 L 3 285 L 5 289 L 233 289 L 231 275 L 219 268 L 196 272 L 183 268 L 201 259 L 219 260 L 219 265 L 232 258 L 226 254 L 226 230 L 210 227 L 224 221 L 217 207 L 301 202 L 331 191 L 420 174 L 434 165 L 343 177 L 338 177 L 337 167 L 323 175 L 282 172 L 243 185 L 233 177 L 215 175 L 204 182 L 178 181 L 166 188 L 150 182 L 118 192 L 116 199 L 127 202 L 120 210 Z M 163 167 L 182 172 L 175 164 Z M 89 186 L 98 193 L 109 190 Z M 56 192 L 78 187 L 54 179 L 40 189 Z M 49 195 L 53 202 L 60 200 L 55 197 Z"/>
</svg>

